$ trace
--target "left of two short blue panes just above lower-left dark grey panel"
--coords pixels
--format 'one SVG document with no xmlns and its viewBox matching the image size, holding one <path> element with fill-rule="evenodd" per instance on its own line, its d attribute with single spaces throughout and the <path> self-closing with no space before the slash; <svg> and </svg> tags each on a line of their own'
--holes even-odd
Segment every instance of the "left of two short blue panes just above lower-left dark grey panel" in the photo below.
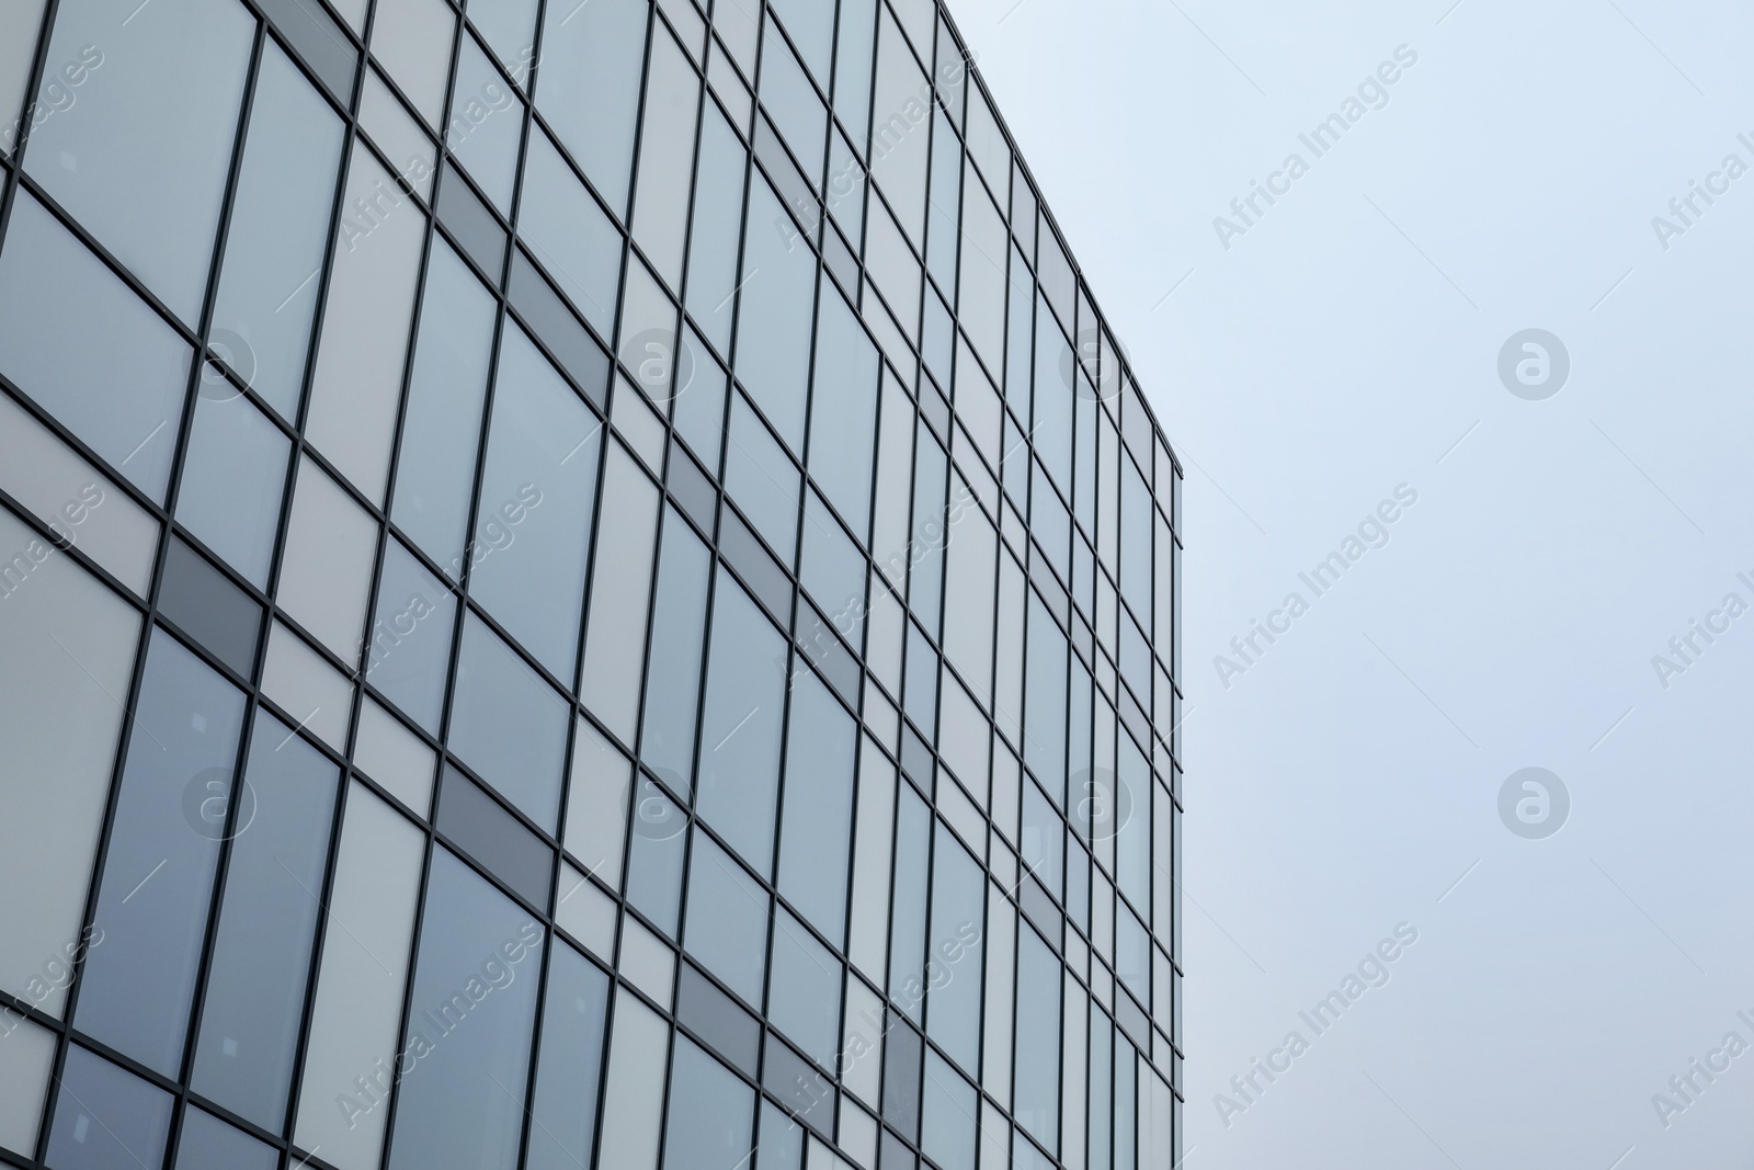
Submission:
<svg viewBox="0 0 1754 1170">
<path fill-rule="evenodd" d="M 454 631 L 456 595 L 400 540 L 386 542 L 365 677 L 433 735 L 444 710 Z"/>
</svg>

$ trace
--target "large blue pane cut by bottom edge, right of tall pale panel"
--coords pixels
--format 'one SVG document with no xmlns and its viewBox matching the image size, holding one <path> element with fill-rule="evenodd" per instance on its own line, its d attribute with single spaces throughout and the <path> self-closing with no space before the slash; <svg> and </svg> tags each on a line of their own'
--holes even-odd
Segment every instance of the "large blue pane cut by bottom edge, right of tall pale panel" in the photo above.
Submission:
<svg viewBox="0 0 1754 1170">
<path fill-rule="evenodd" d="M 542 926 L 451 853 L 433 853 L 400 1065 L 393 1170 L 512 1166 L 542 972 Z"/>
</svg>

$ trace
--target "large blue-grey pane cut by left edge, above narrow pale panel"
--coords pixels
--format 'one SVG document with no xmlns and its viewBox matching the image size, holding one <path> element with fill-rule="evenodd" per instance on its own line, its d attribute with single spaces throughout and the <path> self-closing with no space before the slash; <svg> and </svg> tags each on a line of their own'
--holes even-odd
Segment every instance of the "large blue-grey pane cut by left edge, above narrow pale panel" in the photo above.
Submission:
<svg viewBox="0 0 1754 1170">
<path fill-rule="evenodd" d="M 0 374 L 163 500 L 188 372 L 170 326 L 19 191 L 0 249 Z"/>
</svg>

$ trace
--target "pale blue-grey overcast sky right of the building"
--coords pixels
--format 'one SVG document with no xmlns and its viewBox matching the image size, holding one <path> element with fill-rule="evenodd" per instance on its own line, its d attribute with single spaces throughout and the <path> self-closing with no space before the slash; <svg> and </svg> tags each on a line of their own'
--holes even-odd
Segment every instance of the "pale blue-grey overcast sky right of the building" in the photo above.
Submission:
<svg viewBox="0 0 1754 1170">
<path fill-rule="evenodd" d="M 951 0 L 1187 467 L 1187 1166 L 1749 1166 L 1754 14 L 1452 4 Z"/>
</svg>

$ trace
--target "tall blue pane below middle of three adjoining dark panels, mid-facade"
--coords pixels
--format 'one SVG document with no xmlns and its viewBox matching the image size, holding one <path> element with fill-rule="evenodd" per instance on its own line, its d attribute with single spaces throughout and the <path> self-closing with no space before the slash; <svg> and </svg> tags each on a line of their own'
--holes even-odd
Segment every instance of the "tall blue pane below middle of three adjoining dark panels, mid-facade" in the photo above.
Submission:
<svg viewBox="0 0 1754 1170">
<path fill-rule="evenodd" d="M 719 570 L 700 737 L 700 814 L 754 868 L 774 860 L 786 639 Z"/>
</svg>

